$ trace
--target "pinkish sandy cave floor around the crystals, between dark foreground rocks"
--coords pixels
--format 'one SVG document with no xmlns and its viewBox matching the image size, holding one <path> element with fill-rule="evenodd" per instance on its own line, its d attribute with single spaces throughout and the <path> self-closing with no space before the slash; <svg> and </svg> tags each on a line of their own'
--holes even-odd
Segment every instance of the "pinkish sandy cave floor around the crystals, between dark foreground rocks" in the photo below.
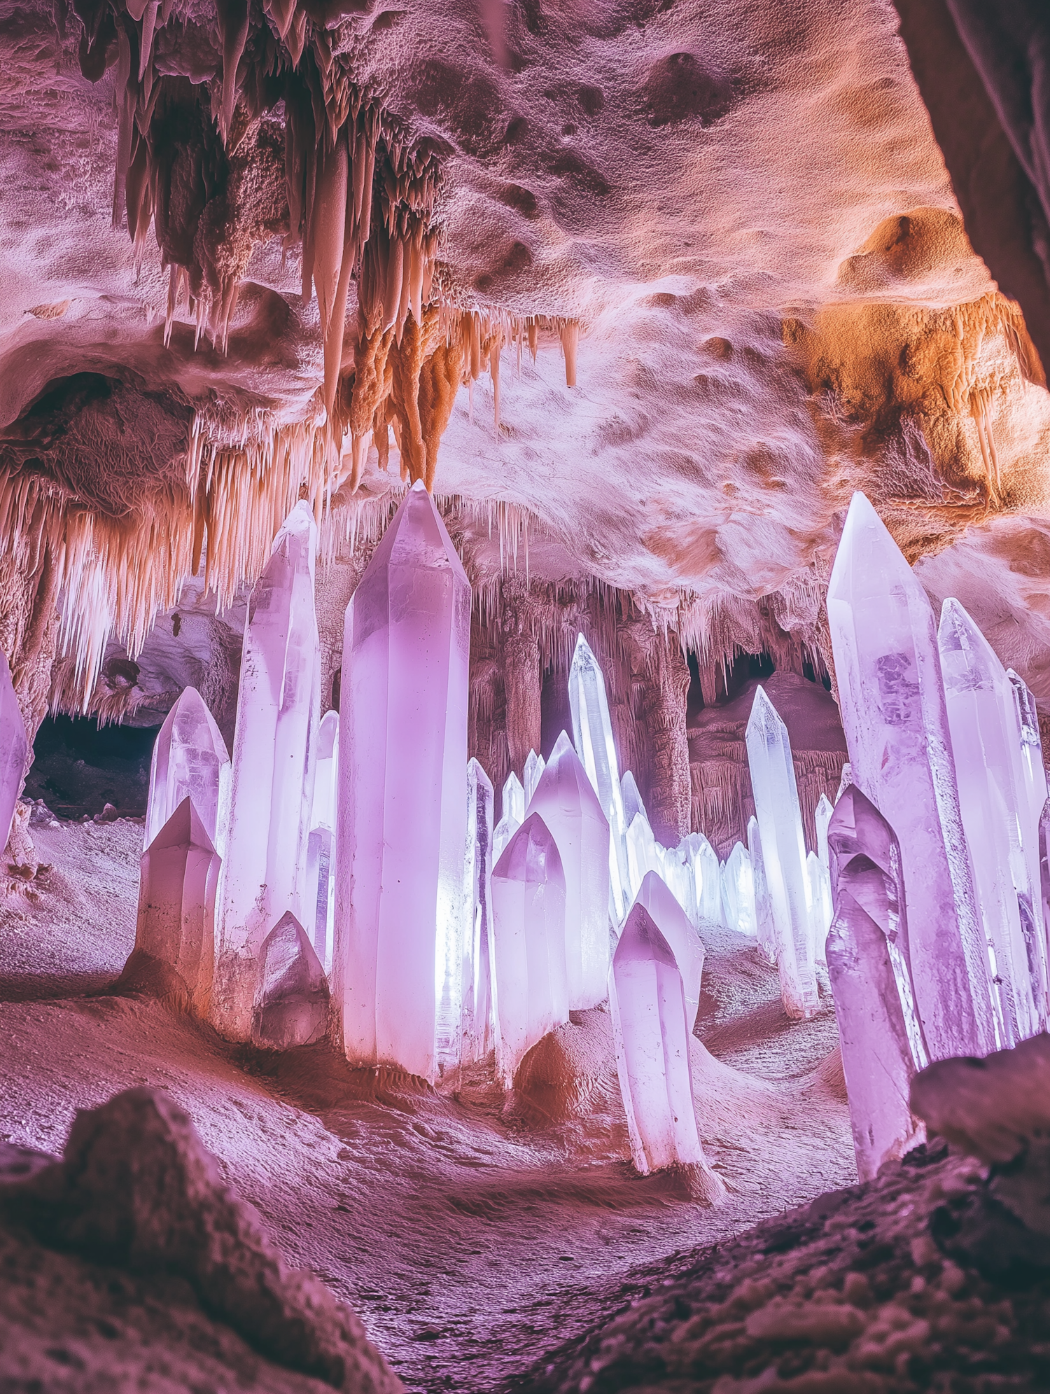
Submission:
<svg viewBox="0 0 1050 1394">
<path fill-rule="evenodd" d="M 238 1050 L 99 995 L 134 940 L 141 825 L 35 829 L 52 873 L 0 912 L 0 1140 L 60 1153 L 78 1107 L 149 1083 L 191 1112 L 290 1263 L 364 1319 L 411 1390 L 502 1390 L 694 1250 L 856 1179 L 834 1013 L 791 1026 L 775 972 L 714 927 L 694 1080 L 718 1210 L 627 1163 L 608 1013 L 581 1013 L 506 1100 L 326 1047 Z M 710 1050 L 707 1048 L 710 1047 Z M 566 1082 L 570 1087 L 566 1087 Z"/>
</svg>

